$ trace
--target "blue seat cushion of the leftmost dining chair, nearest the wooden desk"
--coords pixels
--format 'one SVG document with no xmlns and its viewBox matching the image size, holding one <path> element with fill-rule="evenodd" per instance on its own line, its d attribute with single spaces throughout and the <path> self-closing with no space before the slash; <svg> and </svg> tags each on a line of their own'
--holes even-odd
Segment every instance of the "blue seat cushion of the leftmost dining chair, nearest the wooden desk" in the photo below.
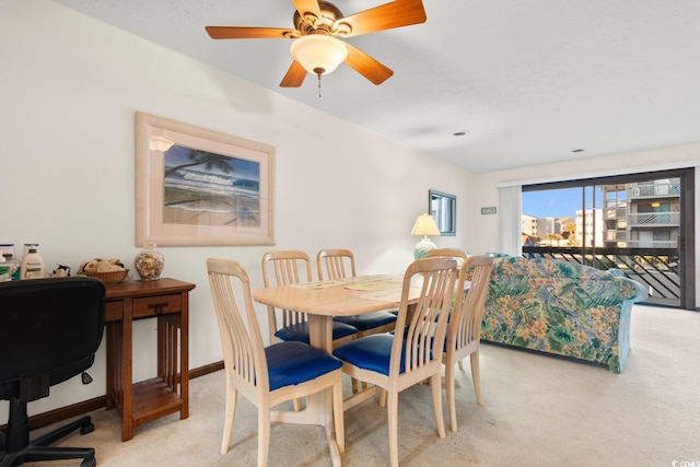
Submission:
<svg viewBox="0 0 700 467">
<path fill-rule="evenodd" d="M 278 342 L 265 348 L 270 390 L 314 380 L 342 366 L 325 350 L 306 343 Z"/>
</svg>

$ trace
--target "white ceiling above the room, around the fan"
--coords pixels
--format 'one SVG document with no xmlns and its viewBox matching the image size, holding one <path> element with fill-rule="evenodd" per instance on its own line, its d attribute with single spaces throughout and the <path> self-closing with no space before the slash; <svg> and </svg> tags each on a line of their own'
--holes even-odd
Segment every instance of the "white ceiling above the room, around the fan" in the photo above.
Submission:
<svg viewBox="0 0 700 467">
<path fill-rule="evenodd" d="M 424 24 L 347 39 L 392 78 L 342 65 L 322 98 L 279 87 L 289 40 L 205 32 L 293 28 L 290 0 L 55 1 L 475 173 L 700 141 L 699 0 L 424 0 Z"/>
</svg>

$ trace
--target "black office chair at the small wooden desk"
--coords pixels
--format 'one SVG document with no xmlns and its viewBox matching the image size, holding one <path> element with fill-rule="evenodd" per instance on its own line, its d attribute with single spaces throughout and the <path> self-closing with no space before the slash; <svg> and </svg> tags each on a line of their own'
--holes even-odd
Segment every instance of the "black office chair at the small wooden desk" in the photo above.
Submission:
<svg viewBox="0 0 700 467">
<path fill-rule="evenodd" d="M 49 387 L 92 366 L 105 324 L 105 285 L 92 278 L 48 278 L 0 283 L 0 399 L 10 401 L 7 433 L 0 436 L 0 467 L 28 462 L 82 458 L 96 465 L 95 450 L 51 447 L 80 429 L 94 430 L 90 417 L 30 442 L 27 402 L 47 397 Z"/>
</svg>

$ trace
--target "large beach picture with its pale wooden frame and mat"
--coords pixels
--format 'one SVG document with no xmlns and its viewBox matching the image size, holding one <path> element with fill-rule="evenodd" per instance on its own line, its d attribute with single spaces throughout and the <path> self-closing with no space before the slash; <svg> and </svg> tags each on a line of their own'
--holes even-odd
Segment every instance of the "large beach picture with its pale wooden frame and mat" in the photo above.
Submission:
<svg viewBox="0 0 700 467">
<path fill-rule="evenodd" d="M 136 244 L 273 245 L 275 148 L 136 114 Z"/>
</svg>

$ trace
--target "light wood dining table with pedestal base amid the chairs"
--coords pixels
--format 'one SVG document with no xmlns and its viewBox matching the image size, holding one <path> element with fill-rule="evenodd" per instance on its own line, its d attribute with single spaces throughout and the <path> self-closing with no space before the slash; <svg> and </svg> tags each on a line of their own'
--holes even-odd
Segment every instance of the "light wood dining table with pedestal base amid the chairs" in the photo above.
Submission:
<svg viewBox="0 0 700 467">
<path fill-rule="evenodd" d="M 341 281 L 317 281 L 293 285 L 270 287 L 253 291 L 256 302 L 276 308 L 306 313 L 312 346 L 332 352 L 332 317 L 352 316 L 397 307 L 401 299 L 404 278 L 401 275 L 358 276 Z M 412 295 L 412 293 L 411 293 Z M 362 400 L 373 393 L 365 392 Z M 355 396 L 352 405 L 360 401 Z M 340 465 L 340 453 L 332 428 L 330 398 L 324 393 L 314 395 L 307 406 L 299 412 L 280 412 L 272 420 L 319 424 L 326 430 L 332 465 Z"/>
</svg>

